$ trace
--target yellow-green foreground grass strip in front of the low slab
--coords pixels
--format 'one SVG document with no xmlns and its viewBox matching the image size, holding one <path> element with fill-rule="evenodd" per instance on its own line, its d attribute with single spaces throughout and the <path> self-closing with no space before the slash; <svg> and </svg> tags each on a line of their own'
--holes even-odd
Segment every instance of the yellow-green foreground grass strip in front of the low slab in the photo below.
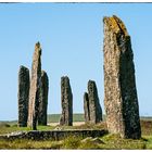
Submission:
<svg viewBox="0 0 152 152">
<path fill-rule="evenodd" d="M 52 141 L 52 140 L 27 140 L 16 139 L 13 141 L 0 140 L 0 149 L 104 149 L 104 150 L 143 150 L 152 149 L 152 137 L 144 137 L 148 141 L 122 139 L 117 135 L 107 135 L 101 137 L 100 140 L 103 143 L 96 143 L 92 140 L 83 141 L 81 137 L 69 136 L 65 140 Z"/>
</svg>

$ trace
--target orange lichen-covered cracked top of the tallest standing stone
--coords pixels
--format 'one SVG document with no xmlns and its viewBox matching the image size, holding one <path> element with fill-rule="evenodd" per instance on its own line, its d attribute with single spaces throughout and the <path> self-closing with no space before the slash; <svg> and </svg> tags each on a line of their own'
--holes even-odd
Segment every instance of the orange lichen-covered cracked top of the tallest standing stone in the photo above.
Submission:
<svg viewBox="0 0 152 152">
<path fill-rule="evenodd" d="M 103 17 L 103 23 L 106 23 L 106 25 L 113 33 L 123 33 L 125 36 L 129 36 L 126 26 L 116 15 L 113 15 L 112 17 Z"/>
</svg>

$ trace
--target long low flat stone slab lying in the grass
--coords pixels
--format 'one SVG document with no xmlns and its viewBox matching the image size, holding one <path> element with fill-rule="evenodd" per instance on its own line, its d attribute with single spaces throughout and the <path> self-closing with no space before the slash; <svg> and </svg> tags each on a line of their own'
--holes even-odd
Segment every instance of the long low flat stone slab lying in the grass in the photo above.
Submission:
<svg viewBox="0 0 152 152">
<path fill-rule="evenodd" d="M 86 137 L 102 137 L 106 135 L 107 130 L 31 130 L 31 131 L 14 131 L 11 134 L 1 135 L 0 139 L 14 140 L 14 139 L 33 139 L 33 140 L 62 140 L 68 136 L 81 136 Z"/>
</svg>

